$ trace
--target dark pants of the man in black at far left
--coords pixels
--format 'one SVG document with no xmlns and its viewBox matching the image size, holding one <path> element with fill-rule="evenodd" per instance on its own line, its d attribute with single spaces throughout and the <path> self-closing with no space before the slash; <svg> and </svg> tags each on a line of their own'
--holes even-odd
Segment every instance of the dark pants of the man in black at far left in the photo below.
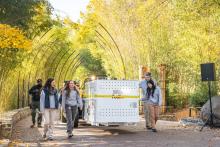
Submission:
<svg viewBox="0 0 220 147">
<path fill-rule="evenodd" d="M 38 111 L 40 111 L 40 102 L 32 101 L 31 109 L 32 109 L 32 112 L 31 112 L 32 122 L 33 124 L 35 124 L 35 117 L 36 117 L 37 109 Z M 42 115 L 38 113 L 37 124 L 41 125 L 41 121 L 42 121 Z"/>
</svg>

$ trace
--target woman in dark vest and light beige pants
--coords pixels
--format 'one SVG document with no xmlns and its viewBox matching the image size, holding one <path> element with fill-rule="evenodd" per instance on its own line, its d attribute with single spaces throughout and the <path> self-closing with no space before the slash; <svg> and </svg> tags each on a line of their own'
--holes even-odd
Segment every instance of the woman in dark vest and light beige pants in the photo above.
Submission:
<svg viewBox="0 0 220 147">
<path fill-rule="evenodd" d="M 58 105 L 58 92 L 55 88 L 55 80 L 53 78 L 49 78 L 46 81 L 40 96 L 40 111 L 43 114 L 45 121 L 43 134 L 44 139 L 46 139 L 48 135 L 48 139 L 53 140 L 53 127 L 57 116 Z"/>
</svg>

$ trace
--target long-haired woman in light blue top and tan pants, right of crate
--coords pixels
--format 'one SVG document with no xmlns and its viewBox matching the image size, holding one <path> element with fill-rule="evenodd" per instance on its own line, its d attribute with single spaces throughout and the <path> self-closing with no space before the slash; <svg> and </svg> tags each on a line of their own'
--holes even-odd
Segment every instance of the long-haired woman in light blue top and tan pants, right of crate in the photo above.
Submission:
<svg viewBox="0 0 220 147">
<path fill-rule="evenodd" d="M 162 105 L 162 94 L 160 87 L 156 86 L 153 80 L 147 83 L 146 99 L 149 104 L 152 131 L 157 132 L 155 125 L 159 117 L 159 106 Z"/>
</svg>

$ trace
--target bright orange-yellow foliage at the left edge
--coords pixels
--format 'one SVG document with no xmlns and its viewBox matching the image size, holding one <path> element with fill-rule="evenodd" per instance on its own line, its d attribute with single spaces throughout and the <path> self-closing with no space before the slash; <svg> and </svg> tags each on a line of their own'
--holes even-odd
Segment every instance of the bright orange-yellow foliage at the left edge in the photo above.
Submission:
<svg viewBox="0 0 220 147">
<path fill-rule="evenodd" d="M 27 39 L 18 28 L 0 24 L 0 49 L 31 49 L 31 40 Z"/>
</svg>

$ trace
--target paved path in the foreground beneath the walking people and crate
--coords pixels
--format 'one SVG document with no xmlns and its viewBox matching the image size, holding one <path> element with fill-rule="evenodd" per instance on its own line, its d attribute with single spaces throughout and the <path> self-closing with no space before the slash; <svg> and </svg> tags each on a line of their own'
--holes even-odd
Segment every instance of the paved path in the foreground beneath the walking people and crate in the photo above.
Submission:
<svg viewBox="0 0 220 147">
<path fill-rule="evenodd" d="M 137 126 L 94 127 L 83 122 L 68 139 L 65 124 L 57 123 L 53 141 L 44 141 L 43 128 L 30 128 L 31 117 L 17 123 L 9 146 L 74 146 L 74 147 L 220 147 L 220 129 L 180 126 L 178 122 L 158 121 L 158 132 Z M 1 144 L 1 143 L 0 143 Z M 1 145 L 0 145 L 1 146 Z"/>
</svg>

